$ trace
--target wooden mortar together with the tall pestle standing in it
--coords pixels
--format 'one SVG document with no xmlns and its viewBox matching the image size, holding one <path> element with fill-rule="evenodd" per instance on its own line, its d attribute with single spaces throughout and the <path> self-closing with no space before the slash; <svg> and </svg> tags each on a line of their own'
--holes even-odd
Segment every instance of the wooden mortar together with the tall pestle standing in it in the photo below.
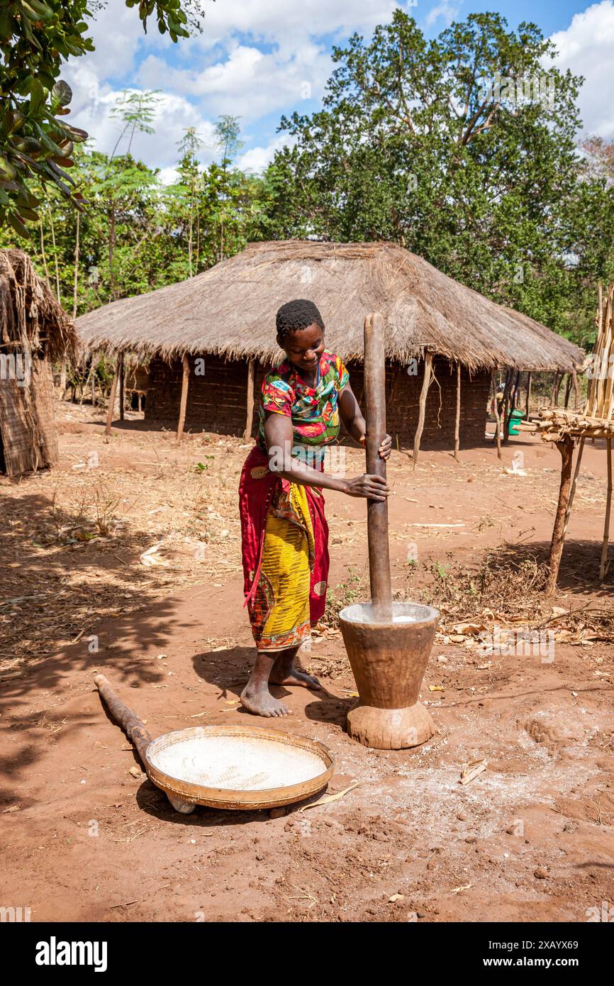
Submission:
<svg viewBox="0 0 614 986">
<path fill-rule="evenodd" d="M 365 319 L 365 399 L 367 404 L 367 472 L 385 478 L 378 449 L 385 428 L 383 317 Z M 430 714 L 418 701 L 439 612 L 431 606 L 392 602 L 388 549 L 388 506 L 369 500 L 369 573 L 372 602 L 346 606 L 339 622 L 359 692 L 348 713 L 348 734 L 366 746 L 402 749 L 417 746 L 435 733 Z M 406 622 L 394 617 L 404 616 Z"/>
</svg>

